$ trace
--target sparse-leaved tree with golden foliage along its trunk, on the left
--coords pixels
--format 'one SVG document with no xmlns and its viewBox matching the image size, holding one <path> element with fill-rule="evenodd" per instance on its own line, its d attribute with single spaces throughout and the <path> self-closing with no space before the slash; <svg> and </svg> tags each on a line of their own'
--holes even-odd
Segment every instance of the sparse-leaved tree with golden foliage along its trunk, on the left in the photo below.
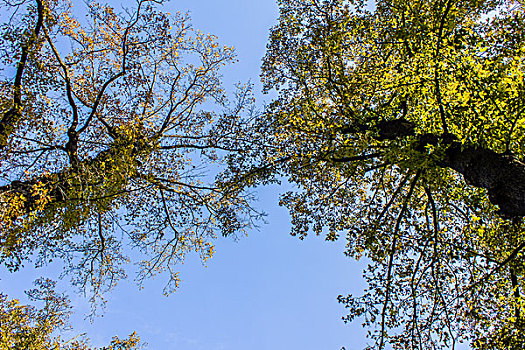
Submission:
<svg viewBox="0 0 525 350">
<path fill-rule="evenodd" d="M 62 259 L 96 300 L 136 249 L 139 280 L 168 270 L 170 292 L 186 253 L 208 259 L 210 238 L 258 215 L 213 179 L 251 100 L 241 89 L 227 104 L 220 69 L 233 49 L 159 4 L 117 13 L 89 2 L 79 20 L 61 0 L 2 3 L 0 261 L 10 270 Z"/>
</svg>

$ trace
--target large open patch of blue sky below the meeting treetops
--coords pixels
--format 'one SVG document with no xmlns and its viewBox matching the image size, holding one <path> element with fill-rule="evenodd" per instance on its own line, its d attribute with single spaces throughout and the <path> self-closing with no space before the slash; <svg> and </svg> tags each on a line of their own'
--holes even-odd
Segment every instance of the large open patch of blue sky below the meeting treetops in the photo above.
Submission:
<svg viewBox="0 0 525 350">
<path fill-rule="evenodd" d="M 336 301 L 338 294 L 360 293 L 362 266 L 344 257 L 344 242 L 291 237 L 277 191 L 260 191 L 269 223 L 237 242 L 219 239 L 206 267 L 190 257 L 175 294 L 162 296 L 162 277 L 141 291 L 132 281 L 121 283 L 104 317 L 79 322 L 76 331 L 104 344 L 136 330 L 149 349 L 363 349 L 364 331 L 341 321 Z M 75 302 L 88 311 L 85 301 Z"/>
</svg>

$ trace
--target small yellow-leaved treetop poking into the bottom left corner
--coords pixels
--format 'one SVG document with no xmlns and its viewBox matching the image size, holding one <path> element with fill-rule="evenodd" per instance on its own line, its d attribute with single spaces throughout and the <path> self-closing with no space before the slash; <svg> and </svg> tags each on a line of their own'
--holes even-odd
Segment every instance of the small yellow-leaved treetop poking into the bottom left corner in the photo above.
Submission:
<svg viewBox="0 0 525 350">
<path fill-rule="evenodd" d="M 63 295 L 55 292 L 55 283 L 40 279 L 36 287 L 27 292 L 33 301 L 44 303 L 43 308 L 20 305 L 0 294 L 0 349 L 2 350 L 95 350 L 86 340 L 63 341 L 53 332 L 67 326 L 70 306 Z M 101 350 L 138 349 L 139 338 L 133 333 L 128 339 L 113 338 Z"/>
</svg>

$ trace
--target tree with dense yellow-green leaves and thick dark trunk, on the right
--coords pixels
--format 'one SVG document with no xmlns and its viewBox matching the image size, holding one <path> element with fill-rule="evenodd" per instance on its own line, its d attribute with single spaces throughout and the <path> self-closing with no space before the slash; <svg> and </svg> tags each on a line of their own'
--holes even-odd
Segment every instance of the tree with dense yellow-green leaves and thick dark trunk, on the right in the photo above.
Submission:
<svg viewBox="0 0 525 350">
<path fill-rule="evenodd" d="M 292 234 L 369 262 L 370 348 L 525 343 L 525 14 L 514 1 L 280 0 L 278 98 L 224 179 L 287 178 Z"/>
</svg>

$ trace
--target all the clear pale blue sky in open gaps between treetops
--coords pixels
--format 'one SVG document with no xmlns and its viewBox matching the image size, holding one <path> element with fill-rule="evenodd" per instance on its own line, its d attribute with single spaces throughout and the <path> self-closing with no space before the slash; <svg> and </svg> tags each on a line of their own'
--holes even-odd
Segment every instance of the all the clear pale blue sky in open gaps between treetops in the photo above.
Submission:
<svg viewBox="0 0 525 350">
<path fill-rule="evenodd" d="M 275 0 L 172 0 L 165 8 L 190 11 L 195 28 L 236 48 L 239 63 L 224 71 L 227 89 L 251 80 L 260 91 L 260 62 L 278 16 Z M 260 104 L 269 100 L 258 97 Z M 162 276 L 143 290 L 130 276 L 108 295 L 104 317 L 89 323 L 83 320 L 89 309 L 85 299 L 70 292 L 75 333 L 86 332 L 101 346 L 113 335 L 136 330 L 155 350 L 364 348 L 365 331 L 359 322 L 341 321 L 345 310 L 336 300 L 339 294 L 361 293 L 362 264 L 344 257 L 344 241 L 291 237 L 288 214 L 277 205 L 279 191 L 259 190 L 257 207 L 268 213 L 268 224 L 237 242 L 220 238 L 207 267 L 190 256 L 181 266 L 180 290 L 170 297 L 162 295 Z M 42 273 L 0 270 L 0 290 L 20 297 Z"/>
</svg>

